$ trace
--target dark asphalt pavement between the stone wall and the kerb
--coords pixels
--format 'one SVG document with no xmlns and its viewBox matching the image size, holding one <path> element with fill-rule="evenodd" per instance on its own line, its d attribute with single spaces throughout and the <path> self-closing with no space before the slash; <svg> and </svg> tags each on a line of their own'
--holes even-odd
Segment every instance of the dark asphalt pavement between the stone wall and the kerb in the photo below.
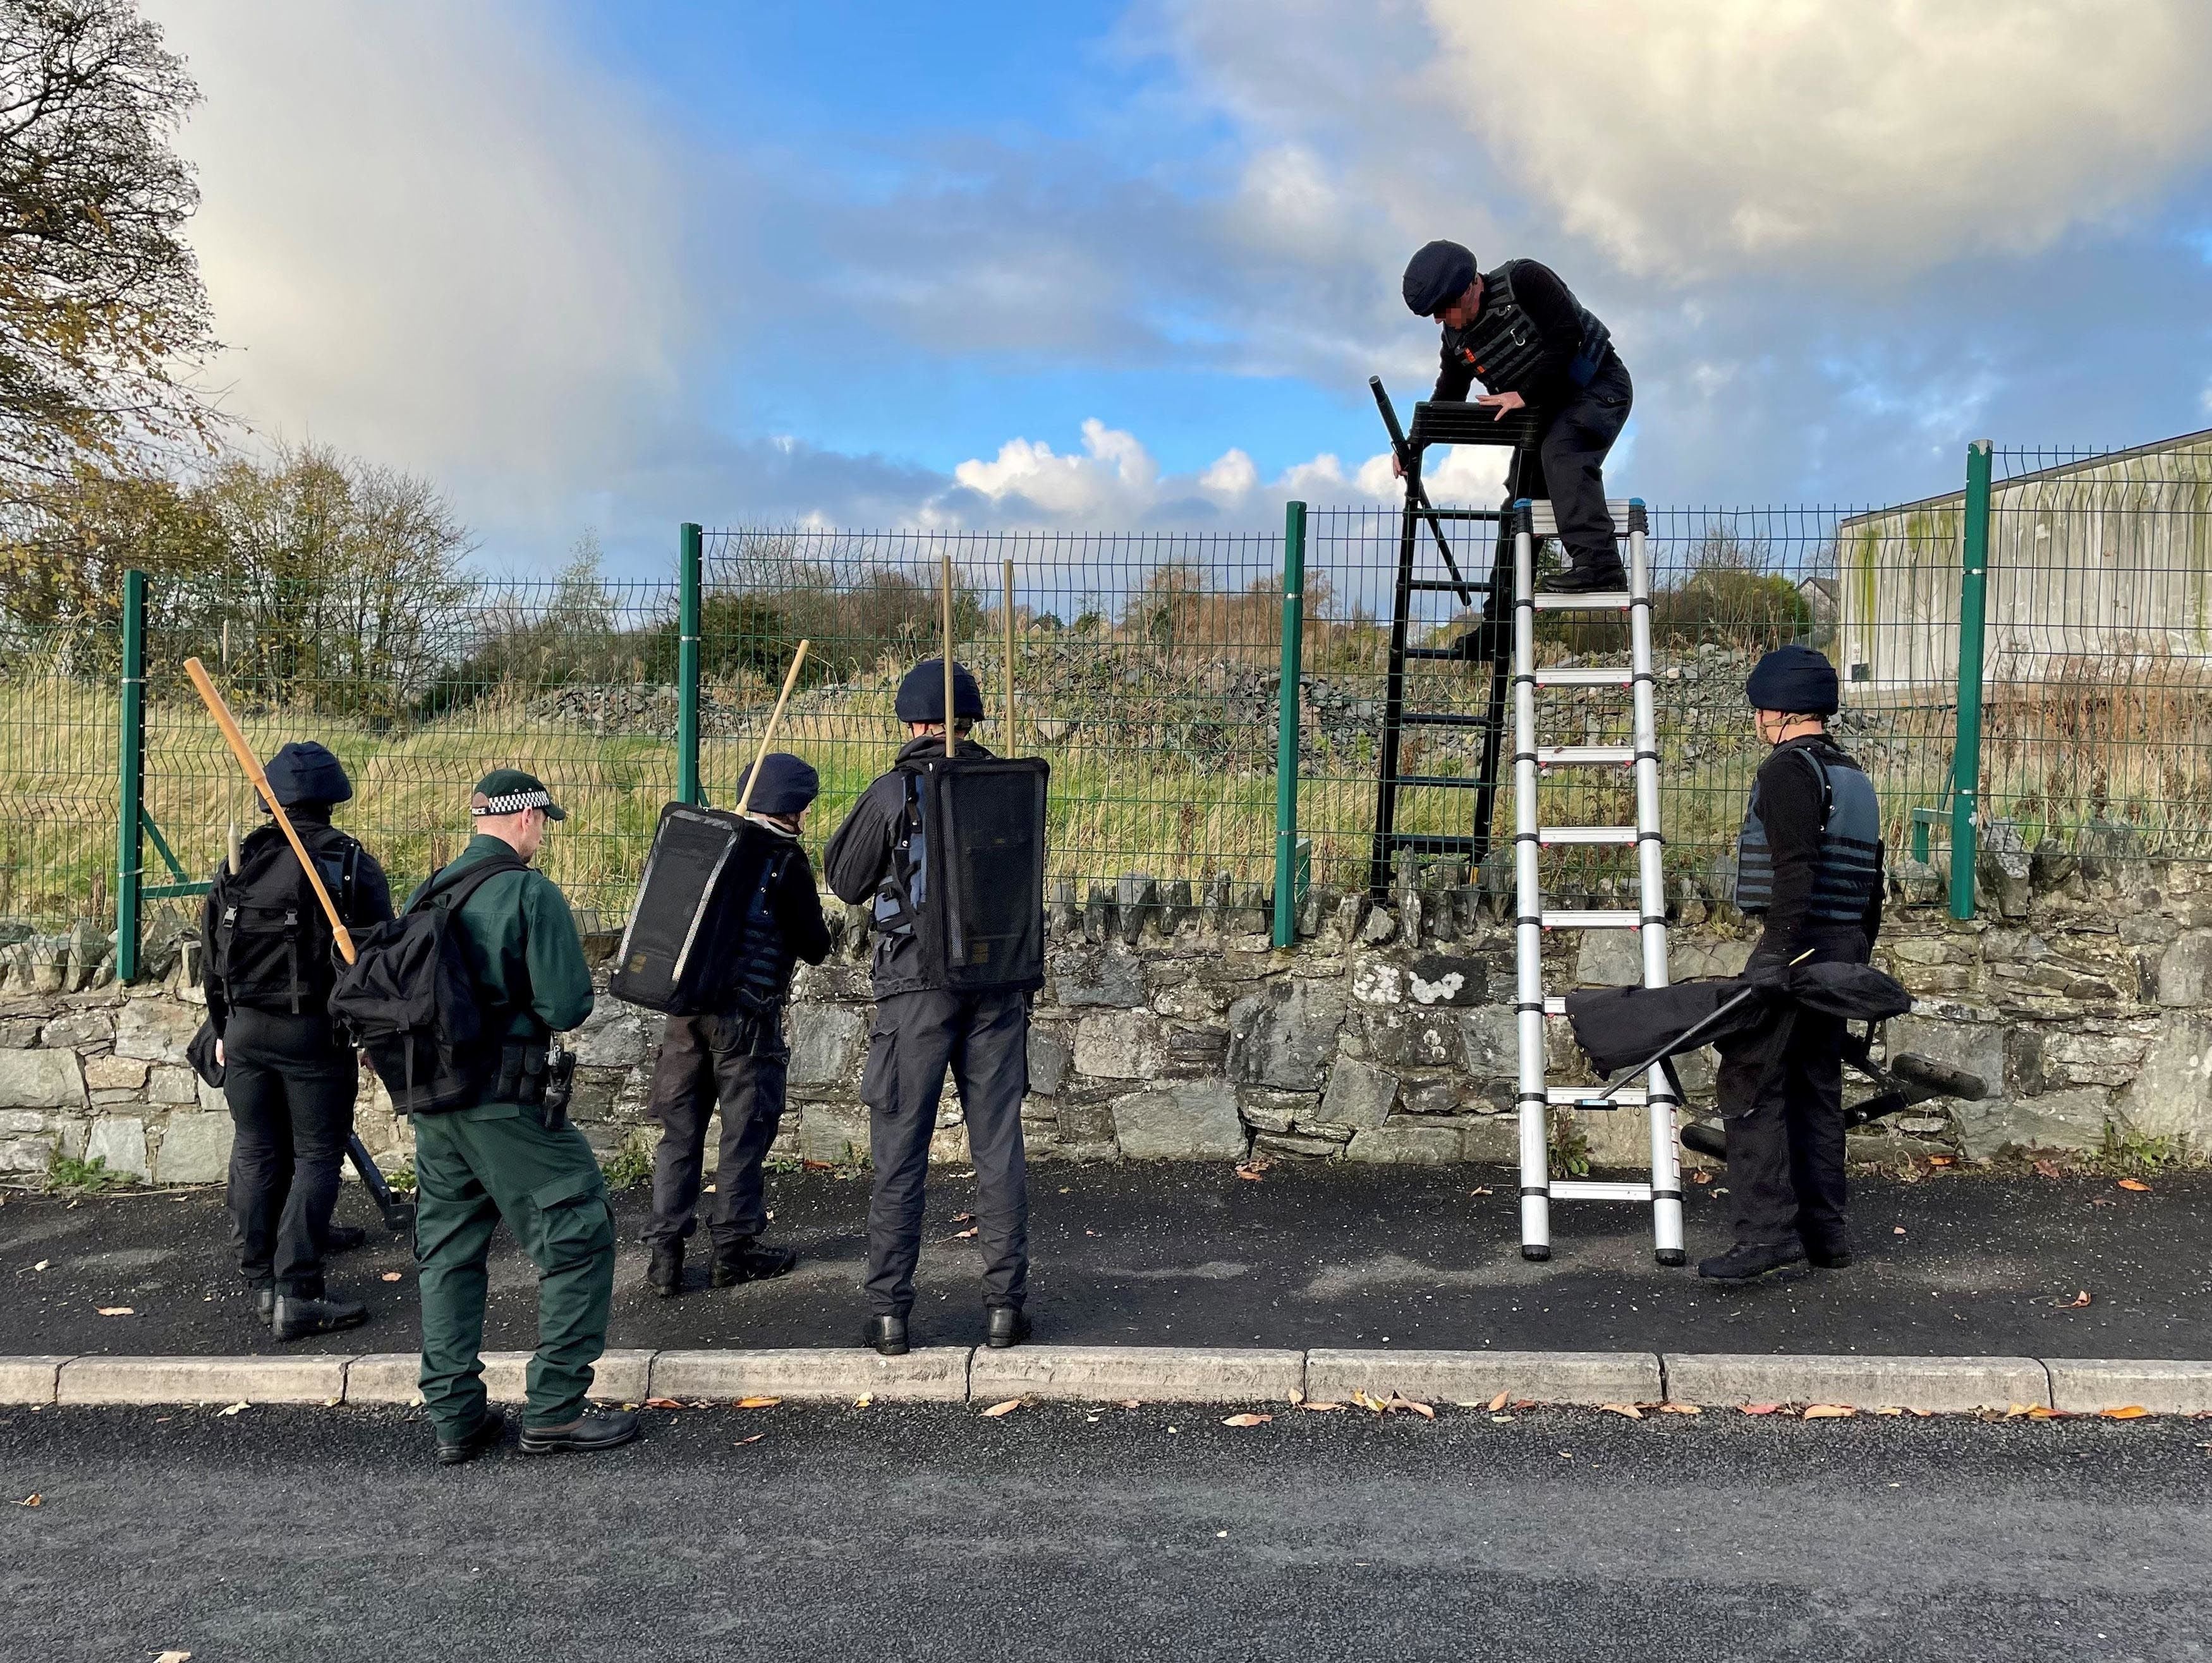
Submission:
<svg viewBox="0 0 2212 1663">
<path fill-rule="evenodd" d="M 1690 1249 L 1725 1245 L 1725 1172 L 1690 1185 Z M 1520 1256 L 1515 1188 L 1475 1168 L 1044 1165 L 1031 1172 L 1037 1338 L 1119 1345 L 1878 1351 L 2212 1358 L 2212 1174 L 2148 1192 L 2095 1179 L 1929 1176 L 1854 1185 L 1858 1263 L 1728 1291 L 1652 1263 L 1641 1207 L 1562 1203 L 1548 1265 Z M 922 1345 L 982 1336 L 975 1185 L 931 1181 Z M 617 1196 L 617 1347 L 852 1345 L 867 1179 L 770 1176 L 783 1280 L 710 1291 L 695 1243 L 679 1300 L 644 1287 L 644 1192 Z M 372 1225 L 332 1285 L 374 1322 L 301 1349 L 409 1351 L 414 1263 Z M 387 1274 L 396 1280 L 383 1280 Z M 500 1236 L 487 1342 L 535 1345 L 535 1280 Z M 2077 1303 L 2088 1294 L 2088 1303 Z M 102 1318 L 100 1307 L 133 1316 Z M 0 1205 L 0 1353 L 265 1351 L 215 1190 Z"/>
</svg>

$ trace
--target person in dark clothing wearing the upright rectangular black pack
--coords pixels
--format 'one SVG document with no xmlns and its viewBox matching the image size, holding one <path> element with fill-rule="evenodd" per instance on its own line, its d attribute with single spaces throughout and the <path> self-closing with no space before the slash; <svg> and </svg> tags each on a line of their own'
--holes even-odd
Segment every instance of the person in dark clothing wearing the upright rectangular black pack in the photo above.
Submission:
<svg viewBox="0 0 2212 1663">
<path fill-rule="evenodd" d="M 925 659 L 898 683 L 907 723 L 900 763 L 945 750 L 945 661 Z M 982 717 L 982 692 L 953 666 L 953 734 L 960 756 L 989 756 L 967 736 Z M 891 767 L 854 803 L 830 838 L 823 869 L 847 902 L 876 904 L 876 1024 L 867 1042 L 860 1097 L 869 1110 L 876 1190 L 867 1207 L 865 1342 L 883 1356 L 907 1349 L 914 1267 L 922 1247 L 922 1185 L 938 1097 L 951 1064 L 975 1163 L 975 1230 L 984 1256 L 987 1342 L 1029 1338 L 1029 1168 L 1022 1148 L 1022 1097 L 1029 1092 L 1029 995 L 953 993 L 936 986 L 911 920 L 929 882 L 931 851 L 916 838 L 911 770 Z"/>
</svg>

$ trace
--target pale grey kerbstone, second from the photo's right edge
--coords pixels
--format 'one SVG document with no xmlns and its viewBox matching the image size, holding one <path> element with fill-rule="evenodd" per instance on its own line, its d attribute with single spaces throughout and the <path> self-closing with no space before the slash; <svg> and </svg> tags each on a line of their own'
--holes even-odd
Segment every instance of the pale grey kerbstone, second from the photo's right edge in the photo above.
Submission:
<svg viewBox="0 0 2212 1663">
<path fill-rule="evenodd" d="M 2051 1404 L 2035 1358 L 1661 1356 L 1666 1395 L 1694 1404 L 1849 1404 L 1854 1409 L 2008 1409 Z"/>
</svg>

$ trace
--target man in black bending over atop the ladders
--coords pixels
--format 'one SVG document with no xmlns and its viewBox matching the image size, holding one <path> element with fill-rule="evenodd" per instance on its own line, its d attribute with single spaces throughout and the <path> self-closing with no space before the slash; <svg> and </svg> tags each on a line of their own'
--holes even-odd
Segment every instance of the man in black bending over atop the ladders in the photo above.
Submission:
<svg viewBox="0 0 2212 1663">
<path fill-rule="evenodd" d="M 1564 595 L 1628 586 L 1617 526 L 1606 511 L 1606 453 L 1621 436 L 1635 387 L 1599 323 L 1559 276 L 1537 261 L 1475 268 L 1460 243 L 1427 243 L 1405 268 L 1405 305 L 1444 327 L 1431 398 L 1467 398 L 1506 416 L 1533 409 L 1537 449 L 1520 453 L 1506 502 L 1548 498 L 1573 564 L 1544 579 Z M 1396 460 L 1394 460 L 1396 467 Z"/>
</svg>

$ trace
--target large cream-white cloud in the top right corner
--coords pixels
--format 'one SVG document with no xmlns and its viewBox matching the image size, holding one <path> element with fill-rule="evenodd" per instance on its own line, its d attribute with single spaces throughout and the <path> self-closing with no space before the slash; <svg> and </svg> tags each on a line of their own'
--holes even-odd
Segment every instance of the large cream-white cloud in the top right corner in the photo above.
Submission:
<svg viewBox="0 0 2212 1663">
<path fill-rule="evenodd" d="M 2212 146 L 2203 0 L 1427 0 L 1433 77 L 1639 274 L 1922 268 L 2141 206 Z"/>
</svg>

